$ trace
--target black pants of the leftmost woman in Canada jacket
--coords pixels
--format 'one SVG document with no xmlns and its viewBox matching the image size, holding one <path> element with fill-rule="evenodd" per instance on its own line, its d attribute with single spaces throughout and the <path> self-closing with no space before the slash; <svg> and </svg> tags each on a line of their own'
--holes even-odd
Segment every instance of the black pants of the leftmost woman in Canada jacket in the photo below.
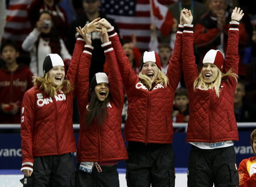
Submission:
<svg viewBox="0 0 256 187">
<path fill-rule="evenodd" d="M 34 157 L 33 187 L 75 186 L 75 163 L 72 153 Z"/>
</svg>

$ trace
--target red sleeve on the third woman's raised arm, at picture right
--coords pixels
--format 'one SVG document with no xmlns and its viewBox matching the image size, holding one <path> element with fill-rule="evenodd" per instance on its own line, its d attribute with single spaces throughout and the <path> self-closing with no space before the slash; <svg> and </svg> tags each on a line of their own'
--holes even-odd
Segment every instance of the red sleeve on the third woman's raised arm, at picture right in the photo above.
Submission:
<svg viewBox="0 0 256 187">
<path fill-rule="evenodd" d="M 172 53 L 166 73 L 166 76 L 168 77 L 169 80 L 168 86 L 170 86 L 172 90 L 174 90 L 174 92 L 177 86 L 179 85 L 182 70 L 182 32 L 183 27 L 179 25 L 175 39 L 174 52 Z"/>
</svg>

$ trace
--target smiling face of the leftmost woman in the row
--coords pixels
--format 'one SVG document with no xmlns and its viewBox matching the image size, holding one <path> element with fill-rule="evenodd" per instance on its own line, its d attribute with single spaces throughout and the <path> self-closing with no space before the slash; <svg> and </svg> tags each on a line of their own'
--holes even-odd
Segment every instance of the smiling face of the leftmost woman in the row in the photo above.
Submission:
<svg viewBox="0 0 256 187">
<path fill-rule="evenodd" d="M 65 68 L 63 66 L 56 66 L 49 70 L 49 79 L 53 86 L 60 86 L 65 77 Z"/>
</svg>

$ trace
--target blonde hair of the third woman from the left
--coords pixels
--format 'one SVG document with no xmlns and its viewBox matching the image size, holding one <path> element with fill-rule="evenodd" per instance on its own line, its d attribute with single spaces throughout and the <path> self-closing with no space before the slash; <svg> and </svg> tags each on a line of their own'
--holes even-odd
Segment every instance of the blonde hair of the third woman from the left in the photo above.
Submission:
<svg viewBox="0 0 256 187">
<path fill-rule="evenodd" d="M 168 78 L 160 69 L 158 69 L 158 74 L 155 76 L 154 80 L 151 80 L 148 76 L 142 74 L 142 71 L 139 72 L 139 80 L 148 90 L 151 90 L 152 86 L 155 86 L 156 84 L 162 84 L 164 88 L 166 88 L 168 84 Z"/>
</svg>

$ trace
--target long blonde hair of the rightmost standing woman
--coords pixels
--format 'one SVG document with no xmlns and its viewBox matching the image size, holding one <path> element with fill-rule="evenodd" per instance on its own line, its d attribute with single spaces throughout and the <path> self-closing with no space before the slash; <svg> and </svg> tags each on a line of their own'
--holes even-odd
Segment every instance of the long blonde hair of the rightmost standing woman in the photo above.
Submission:
<svg viewBox="0 0 256 187">
<path fill-rule="evenodd" d="M 213 82 L 207 83 L 204 81 L 203 73 L 201 72 L 194 82 L 194 85 L 193 85 L 194 90 L 196 90 L 196 89 L 204 89 L 204 90 L 212 89 L 212 90 L 215 90 L 217 97 L 220 97 L 221 81 L 223 78 L 229 78 L 229 77 L 236 78 L 236 81 L 238 78 L 237 74 L 233 73 L 232 69 L 229 69 L 228 72 L 226 72 L 226 73 L 222 73 L 221 70 L 218 69 L 218 75 L 216 77 L 216 80 Z"/>
</svg>

